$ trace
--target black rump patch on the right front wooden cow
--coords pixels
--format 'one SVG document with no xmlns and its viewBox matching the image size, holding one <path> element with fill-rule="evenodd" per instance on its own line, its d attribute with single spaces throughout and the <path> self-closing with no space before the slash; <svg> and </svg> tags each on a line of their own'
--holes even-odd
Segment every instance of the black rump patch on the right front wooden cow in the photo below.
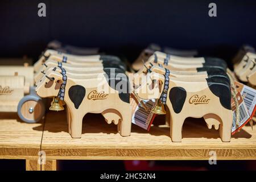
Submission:
<svg viewBox="0 0 256 182">
<path fill-rule="evenodd" d="M 226 109 L 231 109 L 230 84 L 223 78 L 206 78 L 210 91 L 220 99 L 220 103 Z"/>
</svg>

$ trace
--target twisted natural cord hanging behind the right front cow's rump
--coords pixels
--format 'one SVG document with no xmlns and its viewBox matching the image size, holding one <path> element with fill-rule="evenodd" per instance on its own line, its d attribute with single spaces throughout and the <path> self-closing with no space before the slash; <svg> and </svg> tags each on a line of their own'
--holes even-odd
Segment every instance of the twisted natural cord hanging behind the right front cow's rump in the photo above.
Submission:
<svg viewBox="0 0 256 182">
<path fill-rule="evenodd" d="M 236 88 L 236 85 L 234 85 L 234 78 L 230 74 L 231 73 L 230 69 L 227 69 L 226 73 L 230 79 L 231 94 L 232 94 L 232 97 L 233 97 L 235 105 L 236 105 L 236 125 L 238 126 L 239 125 L 238 121 L 240 119 L 240 110 L 239 110 L 239 103 L 238 103 L 238 100 L 236 97 L 237 96 L 237 88 Z"/>
</svg>

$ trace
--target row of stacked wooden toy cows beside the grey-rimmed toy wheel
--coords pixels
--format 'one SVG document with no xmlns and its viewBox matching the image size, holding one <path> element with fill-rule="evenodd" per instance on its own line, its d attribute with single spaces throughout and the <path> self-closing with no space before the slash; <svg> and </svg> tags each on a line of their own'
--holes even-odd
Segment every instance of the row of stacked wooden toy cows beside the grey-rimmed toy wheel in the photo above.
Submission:
<svg viewBox="0 0 256 182">
<path fill-rule="evenodd" d="M 50 110 L 67 105 L 68 128 L 80 138 L 86 113 L 101 113 L 118 125 L 122 136 L 131 131 L 130 82 L 126 65 L 116 56 L 79 56 L 48 49 L 35 63 L 36 93 L 53 97 Z"/>
</svg>

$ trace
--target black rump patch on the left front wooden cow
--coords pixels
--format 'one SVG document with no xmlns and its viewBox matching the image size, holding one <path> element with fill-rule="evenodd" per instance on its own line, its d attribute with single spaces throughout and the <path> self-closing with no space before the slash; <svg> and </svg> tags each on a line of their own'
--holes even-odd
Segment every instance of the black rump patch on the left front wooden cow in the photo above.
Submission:
<svg viewBox="0 0 256 182">
<path fill-rule="evenodd" d="M 105 73 L 104 74 L 111 88 L 118 91 L 119 98 L 126 103 L 130 103 L 130 82 L 125 73 Z"/>
</svg>

